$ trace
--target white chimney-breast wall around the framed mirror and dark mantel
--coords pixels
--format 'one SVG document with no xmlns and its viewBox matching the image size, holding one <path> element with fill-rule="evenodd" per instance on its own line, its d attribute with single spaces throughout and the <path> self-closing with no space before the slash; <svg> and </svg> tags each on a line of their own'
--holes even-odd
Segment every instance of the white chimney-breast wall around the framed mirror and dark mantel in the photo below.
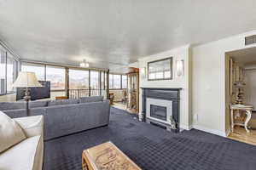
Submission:
<svg viewBox="0 0 256 170">
<path fill-rule="evenodd" d="M 139 59 L 138 65 L 140 69 L 147 67 L 149 61 L 157 59 L 164 59 L 167 57 L 173 57 L 173 75 L 172 80 L 166 81 L 148 81 L 147 78 L 143 78 L 140 74 L 140 87 L 143 88 L 183 88 L 181 90 L 181 102 L 180 102 L 180 126 L 184 129 L 189 129 L 192 125 L 191 117 L 191 105 L 189 105 L 189 92 L 191 88 L 189 86 L 189 73 L 191 72 L 191 56 L 189 54 L 189 45 L 175 48 L 170 51 L 166 51 L 160 54 L 150 55 L 143 59 Z M 176 60 L 184 60 L 184 75 L 183 77 L 176 77 Z M 190 71 L 189 71 L 190 70 Z M 191 76 L 191 75 L 190 75 Z M 191 101 L 191 100 L 190 100 Z M 142 111 L 142 90 L 140 90 L 140 112 Z"/>
</svg>

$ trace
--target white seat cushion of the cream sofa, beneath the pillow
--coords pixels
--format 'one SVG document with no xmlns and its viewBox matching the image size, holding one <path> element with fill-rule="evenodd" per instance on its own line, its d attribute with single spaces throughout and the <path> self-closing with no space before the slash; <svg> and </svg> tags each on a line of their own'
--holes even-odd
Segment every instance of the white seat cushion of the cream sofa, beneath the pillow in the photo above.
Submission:
<svg viewBox="0 0 256 170">
<path fill-rule="evenodd" d="M 40 150 L 43 148 L 39 135 L 25 139 L 0 155 L 0 169 L 36 170 L 35 164 L 42 159 L 38 157 Z"/>
</svg>

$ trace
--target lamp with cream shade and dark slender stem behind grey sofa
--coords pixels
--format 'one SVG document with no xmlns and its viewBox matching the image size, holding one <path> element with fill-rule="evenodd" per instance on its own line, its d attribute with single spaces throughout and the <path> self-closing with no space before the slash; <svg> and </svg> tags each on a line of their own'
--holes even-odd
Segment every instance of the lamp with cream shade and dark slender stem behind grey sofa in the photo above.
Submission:
<svg viewBox="0 0 256 170">
<path fill-rule="evenodd" d="M 34 72 L 20 71 L 13 84 L 14 88 L 26 88 L 24 99 L 26 101 L 26 115 L 28 116 L 28 102 L 31 99 L 29 88 L 43 87 Z"/>
</svg>

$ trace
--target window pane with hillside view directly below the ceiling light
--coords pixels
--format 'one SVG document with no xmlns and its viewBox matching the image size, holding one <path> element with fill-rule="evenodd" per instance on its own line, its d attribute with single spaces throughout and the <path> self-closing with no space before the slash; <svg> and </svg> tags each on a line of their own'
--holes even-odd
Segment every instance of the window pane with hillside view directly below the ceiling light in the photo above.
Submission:
<svg viewBox="0 0 256 170">
<path fill-rule="evenodd" d="M 70 89 L 89 89 L 89 71 L 69 70 Z"/>
</svg>

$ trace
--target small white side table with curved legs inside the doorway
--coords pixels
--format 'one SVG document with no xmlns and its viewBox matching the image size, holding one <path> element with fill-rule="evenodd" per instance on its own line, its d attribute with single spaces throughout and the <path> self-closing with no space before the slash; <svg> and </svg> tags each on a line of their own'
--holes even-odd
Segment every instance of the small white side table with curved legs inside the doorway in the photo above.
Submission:
<svg viewBox="0 0 256 170">
<path fill-rule="evenodd" d="M 234 131 L 234 126 L 235 125 L 239 125 L 239 126 L 243 126 L 245 127 L 247 133 L 249 133 L 250 131 L 247 128 L 247 124 L 248 122 L 251 120 L 252 117 L 252 111 L 253 111 L 253 106 L 252 105 L 230 105 L 230 116 L 231 116 L 231 131 Z M 241 122 L 235 122 L 234 119 L 236 119 L 236 117 L 240 116 L 240 112 L 236 112 L 236 116 L 234 117 L 234 111 L 246 111 L 247 114 L 247 118 L 245 120 L 244 123 Z"/>
</svg>

